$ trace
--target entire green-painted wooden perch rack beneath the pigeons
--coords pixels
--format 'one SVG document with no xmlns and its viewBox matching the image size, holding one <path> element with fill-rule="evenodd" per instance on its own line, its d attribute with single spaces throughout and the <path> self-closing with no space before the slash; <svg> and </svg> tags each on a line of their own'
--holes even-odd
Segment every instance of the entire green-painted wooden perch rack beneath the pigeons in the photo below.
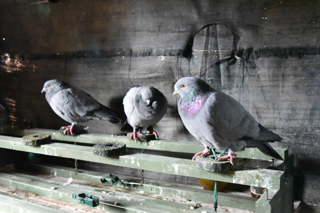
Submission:
<svg viewBox="0 0 320 213">
<path fill-rule="evenodd" d="M 49 133 L 52 140 L 56 142 L 44 144 L 38 147 L 25 146 L 21 143 L 20 136 L 25 136 L 35 133 Z M 92 147 L 73 145 L 67 142 L 78 142 L 78 143 L 90 143 L 96 144 L 107 141 L 121 141 L 126 143 L 129 148 L 139 148 L 139 149 L 149 149 L 158 151 L 179 151 L 184 153 L 195 153 L 197 151 L 202 151 L 203 146 L 200 143 L 194 142 L 183 142 L 183 141 L 170 141 L 170 140 L 154 140 L 148 143 L 128 143 L 125 136 L 111 136 L 102 134 L 85 134 L 81 136 L 64 136 L 59 131 L 50 129 L 23 129 L 23 130 L 12 130 L 10 128 L 2 128 L 1 134 L 10 135 L 3 136 L 0 135 L 0 148 L 12 149 L 19 151 L 26 151 L 44 155 L 58 156 L 64 158 L 73 158 L 97 163 L 104 163 L 110 165 L 124 166 L 136 169 L 143 169 L 155 172 L 170 173 L 176 175 L 183 175 L 189 177 L 203 178 L 209 180 L 224 181 L 229 183 L 237 183 L 248 186 L 257 186 L 268 188 L 268 199 L 267 193 L 264 193 L 258 200 L 251 197 L 244 197 L 240 195 L 230 195 L 227 193 L 218 193 L 219 195 L 219 205 L 228 206 L 232 208 L 245 209 L 260 213 L 267 212 L 292 212 L 293 201 L 292 201 L 292 178 L 289 175 L 292 170 L 293 158 L 292 155 L 288 154 L 287 149 L 276 149 L 276 151 L 284 158 L 284 162 L 280 161 L 279 168 L 286 171 L 277 171 L 270 169 L 260 169 L 260 168 L 249 168 L 242 167 L 241 170 L 234 172 L 222 172 L 214 173 L 209 171 L 204 171 L 202 169 L 196 168 L 195 164 L 188 159 L 164 157 L 159 155 L 149 155 L 149 154 L 125 154 L 122 156 L 113 157 L 101 157 L 93 155 Z M 246 148 L 243 151 L 237 152 L 240 158 L 251 158 L 251 159 L 262 159 L 271 160 L 268 156 L 265 156 L 256 148 Z M 101 183 L 101 177 L 105 174 L 79 170 L 77 173 L 73 168 L 61 167 L 56 165 L 39 165 L 39 164 L 28 164 L 26 165 L 28 169 L 32 171 L 37 171 L 41 173 L 62 176 L 62 177 L 72 177 L 78 180 L 86 180 L 96 183 Z M 72 193 L 84 193 L 84 188 L 86 193 L 91 193 L 93 195 L 99 196 L 92 188 L 85 186 L 83 190 L 75 191 L 70 188 L 70 186 L 65 186 L 55 190 L 50 189 L 49 183 L 43 187 L 35 185 L 36 182 L 32 181 L 38 177 L 25 176 L 22 174 L 0 174 L 0 184 L 6 186 L 12 186 L 27 190 L 29 192 L 37 193 L 40 195 L 46 195 L 55 197 L 57 199 L 66 200 L 68 202 L 75 202 L 70 196 Z M 127 183 L 125 180 L 127 177 L 120 177 L 124 179 L 123 182 L 118 182 L 115 184 L 117 187 L 125 187 L 135 190 L 141 190 L 148 193 L 163 194 L 173 197 L 181 197 L 185 199 L 195 200 L 199 202 L 213 202 L 213 192 L 208 190 L 199 190 L 190 187 L 175 186 L 174 184 L 168 185 L 161 183 L 161 181 L 153 182 L 152 184 L 147 183 L 144 185 L 137 182 Z M 40 180 L 39 180 L 40 181 Z M 45 180 L 41 180 L 45 181 Z M 28 187 L 27 187 L 28 186 Z M 49 187 L 49 188 L 48 188 Z M 65 193 L 65 195 L 62 193 Z M 73 191 L 72 191 L 73 190 Z M 62 194 L 61 194 L 62 193 Z M 61 196 L 60 196 L 61 195 Z M 103 194 L 101 195 L 103 196 Z M 136 198 L 135 198 L 136 199 Z M 173 203 L 169 201 L 163 201 L 155 199 L 154 201 L 146 202 L 146 205 L 137 206 L 132 201 L 120 201 L 121 203 L 126 202 L 127 209 L 119 209 L 114 206 L 101 204 L 95 208 L 103 210 L 112 210 L 113 212 L 162 212 L 157 209 L 151 203 L 161 202 L 162 209 L 165 212 L 188 212 L 190 209 L 186 208 L 184 205 L 178 205 L 179 203 Z M 30 204 L 31 205 L 31 204 Z M 160 205 L 160 204 L 159 204 Z M 35 206 L 30 206 L 30 208 L 36 208 Z M 148 208 L 149 209 L 148 209 Z M 8 204 L 4 205 L 2 208 L 8 208 Z M 159 210 L 159 211 L 158 211 Z M 212 209 L 199 208 L 194 209 L 190 212 L 201 212 L 212 211 Z"/>
</svg>

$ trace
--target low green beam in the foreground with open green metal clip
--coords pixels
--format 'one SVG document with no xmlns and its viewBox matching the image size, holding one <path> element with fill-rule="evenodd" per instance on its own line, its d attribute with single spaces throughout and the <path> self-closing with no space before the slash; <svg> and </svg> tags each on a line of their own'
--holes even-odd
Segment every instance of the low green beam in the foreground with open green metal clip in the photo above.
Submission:
<svg viewBox="0 0 320 213">
<path fill-rule="evenodd" d="M 188 204 L 171 202 L 141 195 L 133 195 L 129 193 L 108 190 L 101 187 L 92 187 L 73 183 L 62 187 L 62 181 L 54 180 L 52 182 L 52 179 L 21 173 L 0 173 L 0 184 L 74 203 L 78 203 L 78 201 L 72 199 L 72 193 L 80 194 L 85 192 L 99 196 L 100 204 L 95 208 L 108 212 L 120 213 L 138 211 L 150 213 L 201 213 L 202 211 L 212 211 L 212 209 L 204 207 L 191 210 L 189 209 L 190 205 Z M 102 191 L 105 193 L 102 193 Z M 120 203 L 119 207 L 108 205 L 114 205 L 115 202 Z"/>
</svg>

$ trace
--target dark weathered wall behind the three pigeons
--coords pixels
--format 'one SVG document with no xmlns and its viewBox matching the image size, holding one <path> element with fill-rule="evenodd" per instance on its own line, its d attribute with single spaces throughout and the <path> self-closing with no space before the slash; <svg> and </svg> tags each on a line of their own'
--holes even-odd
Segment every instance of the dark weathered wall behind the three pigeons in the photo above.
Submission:
<svg viewBox="0 0 320 213">
<path fill-rule="evenodd" d="M 0 103 L 13 123 L 58 129 L 66 122 L 40 94 L 46 80 L 63 79 L 118 111 L 133 85 L 153 85 L 169 102 L 160 137 L 195 141 L 172 92 L 176 79 L 201 77 L 284 138 L 275 146 L 295 155 L 296 196 L 319 210 L 319 8 L 316 0 L 4 0 Z M 201 74 L 232 53 L 247 70 L 232 59 Z M 108 122 L 88 125 L 120 134 Z"/>
</svg>

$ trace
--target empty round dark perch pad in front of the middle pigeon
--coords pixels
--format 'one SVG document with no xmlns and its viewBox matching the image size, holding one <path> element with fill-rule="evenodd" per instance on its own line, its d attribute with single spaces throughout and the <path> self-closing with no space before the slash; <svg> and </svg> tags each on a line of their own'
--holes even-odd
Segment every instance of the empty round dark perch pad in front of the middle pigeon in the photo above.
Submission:
<svg viewBox="0 0 320 213">
<path fill-rule="evenodd" d="M 125 152 L 125 143 L 123 142 L 104 142 L 95 144 L 93 147 L 93 154 L 103 157 L 112 155 L 121 155 Z"/>
</svg>

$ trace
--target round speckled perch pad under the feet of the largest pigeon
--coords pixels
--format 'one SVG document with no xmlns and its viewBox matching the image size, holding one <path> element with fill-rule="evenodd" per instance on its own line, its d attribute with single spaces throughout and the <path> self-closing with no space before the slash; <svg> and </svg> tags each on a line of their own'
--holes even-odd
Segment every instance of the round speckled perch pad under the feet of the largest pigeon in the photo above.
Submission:
<svg viewBox="0 0 320 213">
<path fill-rule="evenodd" d="M 233 163 L 236 164 L 236 159 L 233 160 Z M 234 170 L 236 165 L 232 165 L 229 160 L 215 161 L 213 155 L 206 157 L 201 157 L 199 155 L 196 157 L 196 167 L 210 172 L 225 172 Z"/>
</svg>

